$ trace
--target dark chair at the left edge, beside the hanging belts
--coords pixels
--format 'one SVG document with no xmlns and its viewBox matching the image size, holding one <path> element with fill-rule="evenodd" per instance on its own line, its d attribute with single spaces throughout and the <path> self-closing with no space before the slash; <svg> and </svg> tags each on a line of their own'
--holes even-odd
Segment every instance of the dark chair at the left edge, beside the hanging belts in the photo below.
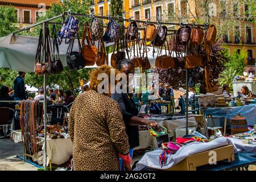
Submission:
<svg viewBox="0 0 256 182">
<path fill-rule="evenodd" d="M 12 114 L 12 118 L 10 118 L 10 111 L 13 112 Z M 14 114 L 15 114 L 15 110 L 11 109 L 9 107 L 0 107 L 0 126 L 3 127 L 3 134 L 7 134 L 8 131 L 8 127 L 11 126 L 11 133 L 13 131 L 13 126 L 14 126 Z M 9 124 L 10 119 L 12 119 L 11 124 Z M 11 135 L 11 133 L 9 135 Z"/>
</svg>

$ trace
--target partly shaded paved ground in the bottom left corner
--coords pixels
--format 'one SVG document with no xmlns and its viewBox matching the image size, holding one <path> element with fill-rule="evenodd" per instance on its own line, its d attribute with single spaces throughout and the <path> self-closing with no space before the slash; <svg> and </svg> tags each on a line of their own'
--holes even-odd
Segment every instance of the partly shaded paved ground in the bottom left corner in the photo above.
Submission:
<svg viewBox="0 0 256 182">
<path fill-rule="evenodd" d="M 0 171 L 37 171 L 38 168 L 23 162 L 16 155 L 23 155 L 22 143 L 14 143 L 10 138 L 0 139 Z"/>
</svg>

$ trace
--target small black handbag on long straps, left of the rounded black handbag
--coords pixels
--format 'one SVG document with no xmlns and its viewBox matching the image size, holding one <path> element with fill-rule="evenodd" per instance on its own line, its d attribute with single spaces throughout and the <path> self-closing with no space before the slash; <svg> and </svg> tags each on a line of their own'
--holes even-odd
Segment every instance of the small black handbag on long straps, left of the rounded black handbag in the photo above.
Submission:
<svg viewBox="0 0 256 182">
<path fill-rule="evenodd" d="M 59 55 L 59 46 L 57 44 L 57 35 L 56 35 L 56 26 L 53 25 L 53 38 L 52 38 L 52 47 L 53 47 L 53 71 L 55 73 L 60 73 L 63 71 L 63 64 L 60 61 Z M 57 59 L 55 59 L 55 49 L 57 52 Z"/>
</svg>

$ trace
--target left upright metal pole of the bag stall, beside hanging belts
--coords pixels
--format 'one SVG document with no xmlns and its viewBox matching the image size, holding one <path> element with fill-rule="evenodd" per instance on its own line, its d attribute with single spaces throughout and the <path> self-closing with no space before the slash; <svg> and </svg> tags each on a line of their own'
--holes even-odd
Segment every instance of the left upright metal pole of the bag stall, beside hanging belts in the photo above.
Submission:
<svg viewBox="0 0 256 182">
<path fill-rule="evenodd" d="M 43 35 L 46 36 L 46 24 L 43 23 Z M 43 55 L 43 60 L 46 60 L 46 54 Z M 47 103 L 46 103 L 46 74 L 44 74 L 44 171 L 47 170 L 47 128 L 46 128 L 46 118 L 47 118 Z"/>
</svg>

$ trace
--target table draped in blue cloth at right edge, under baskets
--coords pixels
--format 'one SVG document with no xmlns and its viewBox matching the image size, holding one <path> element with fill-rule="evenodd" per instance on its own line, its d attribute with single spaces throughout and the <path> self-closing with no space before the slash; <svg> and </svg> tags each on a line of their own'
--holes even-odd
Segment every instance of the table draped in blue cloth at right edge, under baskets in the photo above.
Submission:
<svg viewBox="0 0 256 182">
<path fill-rule="evenodd" d="M 256 105 L 255 104 L 249 104 L 244 106 L 236 106 L 236 107 L 208 107 L 208 108 L 201 108 L 203 110 L 204 115 L 204 121 L 207 126 L 207 119 L 205 118 L 205 115 L 213 115 L 216 117 L 224 117 L 224 136 L 226 134 L 226 123 L 227 119 L 232 119 L 237 115 L 237 113 L 240 113 L 242 117 L 246 118 L 248 125 L 255 125 L 256 124 Z"/>
</svg>

